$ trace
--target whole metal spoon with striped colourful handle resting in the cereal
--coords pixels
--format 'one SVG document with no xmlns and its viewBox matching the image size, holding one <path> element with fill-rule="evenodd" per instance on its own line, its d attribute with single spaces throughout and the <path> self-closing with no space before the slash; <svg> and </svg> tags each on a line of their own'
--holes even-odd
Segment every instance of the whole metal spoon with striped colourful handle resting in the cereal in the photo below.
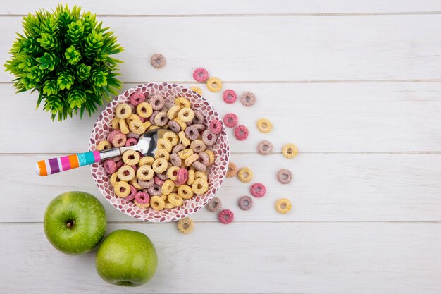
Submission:
<svg viewBox="0 0 441 294">
<path fill-rule="evenodd" d="M 127 150 L 136 150 L 145 156 L 154 157 L 157 149 L 158 140 L 164 133 L 170 132 L 163 128 L 148 130 L 139 136 L 137 145 L 127 147 L 116 147 L 101 151 L 91 151 L 86 153 L 72 154 L 65 157 L 56 157 L 46 160 L 40 160 L 35 165 L 35 172 L 39 176 L 47 176 L 60 171 L 68 171 L 79 166 L 87 166 L 97 163 L 104 159 L 121 156 Z"/>
</svg>

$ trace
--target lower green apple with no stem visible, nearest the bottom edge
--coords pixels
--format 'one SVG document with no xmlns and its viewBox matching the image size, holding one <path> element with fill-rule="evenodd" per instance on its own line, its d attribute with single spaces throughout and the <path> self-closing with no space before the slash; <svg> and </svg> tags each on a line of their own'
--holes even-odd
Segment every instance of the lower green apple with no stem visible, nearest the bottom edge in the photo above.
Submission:
<svg viewBox="0 0 441 294">
<path fill-rule="evenodd" d="M 99 245 L 95 262 L 99 276 L 119 286 L 141 286 L 156 273 L 158 255 L 147 235 L 117 230 Z"/>
</svg>

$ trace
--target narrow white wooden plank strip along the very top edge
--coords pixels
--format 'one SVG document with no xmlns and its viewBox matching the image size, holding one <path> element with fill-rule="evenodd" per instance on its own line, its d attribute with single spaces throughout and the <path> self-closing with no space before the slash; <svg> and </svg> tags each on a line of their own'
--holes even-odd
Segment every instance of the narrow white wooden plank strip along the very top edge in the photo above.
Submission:
<svg viewBox="0 0 441 294">
<path fill-rule="evenodd" d="M 25 0 L 6 1 L 0 7 L 0 14 L 27 14 L 39 10 L 54 8 L 58 5 L 56 0 L 44 0 L 28 2 Z M 313 1 L 290 1 L 275 0 L 268 1 L 225 1 L 222 5 L 206 5 L 203 0 L 190 1 L 136 1 L 126 0 L 124 5 L 120 1 L 110 0 L 75 0 L 64 1 L 70 6 L 78 5 L 87 11 L 106 15 L 194 15 L 194 14 L 253 14 L 253 13 L 390 13 L 399 11 L 441 11 L 440 1 L 424 0 L 393 0 L 393 1 L 361 1 L 361 0 L 313 0 Z"/>
</svg>

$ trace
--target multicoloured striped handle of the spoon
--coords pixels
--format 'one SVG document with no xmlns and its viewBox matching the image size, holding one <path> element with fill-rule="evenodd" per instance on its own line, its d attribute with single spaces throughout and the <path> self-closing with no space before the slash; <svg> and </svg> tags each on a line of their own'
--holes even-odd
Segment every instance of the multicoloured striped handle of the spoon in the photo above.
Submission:
<svg viewBox="0 0 441 294">
<path fill-rule="evenodd" d="M 39 176 L 47 176 L 60 171 L 68 171 L 79 166 L 87 166 L 101 161 L 101 154 L 98 151 L 78 153 L 66 157 L 56 157 L 40 160 L 35 165 L 35 172 Z"/>
</svg>

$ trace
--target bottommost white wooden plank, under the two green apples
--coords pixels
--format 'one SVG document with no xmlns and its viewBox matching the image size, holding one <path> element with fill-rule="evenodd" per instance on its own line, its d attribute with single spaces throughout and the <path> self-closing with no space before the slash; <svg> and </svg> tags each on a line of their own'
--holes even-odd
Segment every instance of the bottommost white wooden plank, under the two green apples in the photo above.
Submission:
<svg viewBox="0 0 441 294">
<path fill-rule="evenodd" d="M 145 286 L 111 286 L 92 252 L 68 256 L 41 224 L 0 225 L 5 293 L 440 293 L 440 223 L 111 225 L 149 235 L 159 267 Z M 242 236 L 242 238 L 232 238 Z M 56 281 L 56 283 L 54 283 Z"/>
</svg>

